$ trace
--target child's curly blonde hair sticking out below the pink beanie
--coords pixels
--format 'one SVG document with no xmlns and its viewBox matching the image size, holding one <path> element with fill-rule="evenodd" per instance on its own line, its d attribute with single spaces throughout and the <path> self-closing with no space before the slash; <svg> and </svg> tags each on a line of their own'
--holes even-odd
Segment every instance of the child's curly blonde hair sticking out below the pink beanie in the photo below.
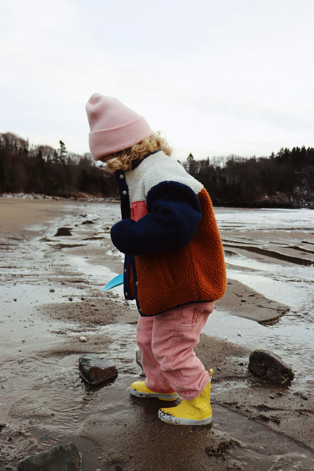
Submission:
<svg viewBox="0 0 314 471">
<path fill-rule="evenodd" d="M 158 131 L 153 136 L 143 139 L 128 149 L 115 152 L 113 158 L 106 162 L 106 171 L 110 173 L 114 173 L 117 170 L 129 171 L 133 163 L 139 162 L 145 155 L 156 150 L 162 150 L 165 154 L 171 155 L 171 147 L 168 146 L 166 139 L 161 138 L 160 134 L 160 131 Z"/>
</svg>

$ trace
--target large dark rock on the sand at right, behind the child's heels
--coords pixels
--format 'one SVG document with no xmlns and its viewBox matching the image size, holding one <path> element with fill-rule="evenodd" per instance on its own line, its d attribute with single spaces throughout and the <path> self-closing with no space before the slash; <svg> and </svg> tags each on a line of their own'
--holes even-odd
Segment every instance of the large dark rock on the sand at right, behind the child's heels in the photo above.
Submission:
<svg viewBox="0 0 314 471">
<path fill-rule="evenodd" d="M 290 365 L 269 350 L 252 351 L 249 358 L 249 371 L 270 384 L 284 384 L 294 378 Z"/>
</svg>

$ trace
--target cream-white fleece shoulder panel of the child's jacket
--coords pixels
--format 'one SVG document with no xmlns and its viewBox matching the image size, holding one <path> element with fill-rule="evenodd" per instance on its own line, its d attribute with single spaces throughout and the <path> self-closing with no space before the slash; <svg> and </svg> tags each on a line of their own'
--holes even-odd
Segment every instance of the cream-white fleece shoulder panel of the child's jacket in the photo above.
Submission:
<svg viewBox="0 0 314 471">
<path fill-rule="evenodd" d="M 163 181 L 177 181 L 190 187 L 197 195 L 203 185 L 189 175 L 181 163 L 163 151 L 146 157 L 134 170 L 126 172 L 129 201 L 145 201 L 149 190 Z"/>
</svg>

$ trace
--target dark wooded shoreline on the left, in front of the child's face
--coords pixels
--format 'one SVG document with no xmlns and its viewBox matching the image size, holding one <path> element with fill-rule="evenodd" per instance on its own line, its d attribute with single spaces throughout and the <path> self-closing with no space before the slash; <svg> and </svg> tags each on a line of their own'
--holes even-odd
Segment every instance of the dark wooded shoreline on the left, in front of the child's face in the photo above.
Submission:
<svg viewBox="0 0 314 471">
<path fill-rule="evenodd" d="M 59 144 L 30 146 L 16 134 L 0 133 L 0 193 L 118 197 L 114 176 L 90 154 L 73 154 L 62 140 Z"/>
</svg>

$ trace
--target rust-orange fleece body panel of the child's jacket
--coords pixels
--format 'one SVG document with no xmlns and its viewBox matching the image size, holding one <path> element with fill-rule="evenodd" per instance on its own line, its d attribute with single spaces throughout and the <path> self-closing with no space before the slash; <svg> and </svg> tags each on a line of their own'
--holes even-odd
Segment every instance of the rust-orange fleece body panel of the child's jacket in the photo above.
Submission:
<svg viewBox="0 0 314 471">
<path fill-rule="evenodd" d="M 197 195 L 202 218 L 183 249 L 137 255 L 137 295 L 142 314 L 152 316 L 178 305 L 217 300 L 225 293 L 224 252 L 206 189 Z"/>
</svg>

